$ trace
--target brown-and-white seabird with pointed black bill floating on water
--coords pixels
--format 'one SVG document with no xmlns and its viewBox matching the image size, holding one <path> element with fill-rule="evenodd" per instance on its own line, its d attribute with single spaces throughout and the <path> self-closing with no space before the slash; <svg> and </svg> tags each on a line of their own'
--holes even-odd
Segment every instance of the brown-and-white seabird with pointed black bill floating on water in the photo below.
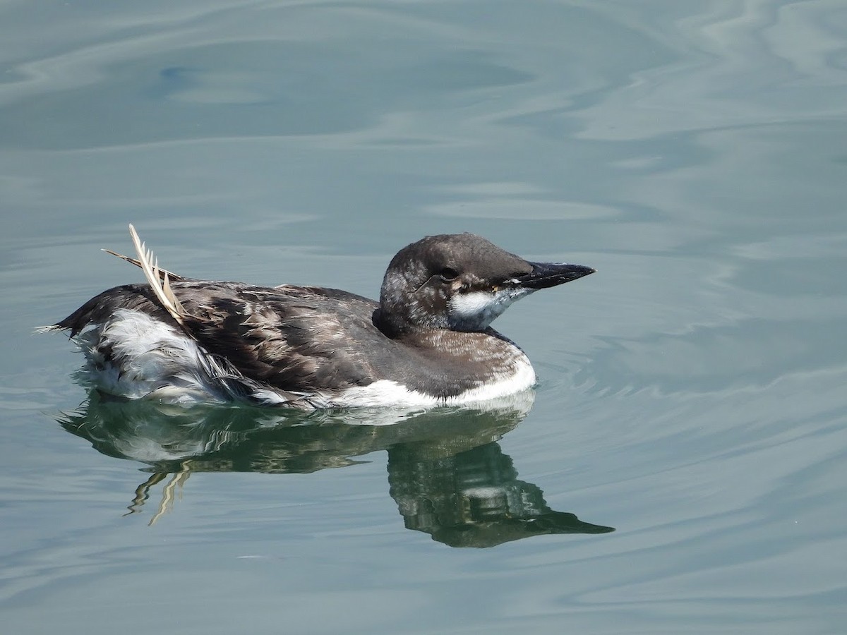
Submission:
<svg viewBox="0 0 847 635">
<path fill-rule="evenodd" d="M 473 234 L 427 236 L 385 272 L 379 303 L 342 290 L 189 279 L 158 268 L 130 225 L 147 284 L 103 291 L 46 330 L 69 330 L 90 383 L 170 403 L 438 406 L 535 383 L 490 328 L 512 302 L 594 269 L 528 262 Z M 114 253 L 114 252 L 111 252 Z"/>
</svg>

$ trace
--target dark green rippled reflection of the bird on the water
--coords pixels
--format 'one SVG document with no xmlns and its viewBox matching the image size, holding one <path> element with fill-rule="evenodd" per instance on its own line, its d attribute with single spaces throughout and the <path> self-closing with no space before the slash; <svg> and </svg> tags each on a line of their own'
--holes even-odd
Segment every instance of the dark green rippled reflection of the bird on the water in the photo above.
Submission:
<svg viewBox="0 0 847 635">
<path fill-rule="evenodd" d="M 150 524 L 169 511 L 191 472 L 316 472 L 386 450 L 390 495 L 406 527 L 441 543 L 490 547 L 547 533 L 614 531 L 551 510 L 538 486 L 518 480 L 497 441 L 523 421 L 532 401 L 526 393 L 479 409 L 304 413 L 186 409 L 92 392 L 58 422 L 104 455 L 147 464 L 152 475 L 136 489 L 130 514 L 165 482 Z"/>
</svg>

